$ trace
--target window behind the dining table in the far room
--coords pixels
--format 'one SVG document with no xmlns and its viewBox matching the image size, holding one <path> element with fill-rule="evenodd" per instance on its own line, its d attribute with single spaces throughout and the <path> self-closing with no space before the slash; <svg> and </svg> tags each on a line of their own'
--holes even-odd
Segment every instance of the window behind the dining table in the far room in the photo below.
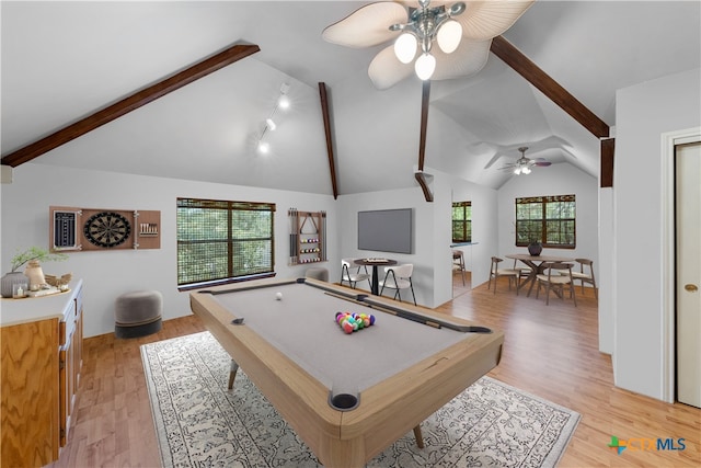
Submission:
<svg viewBox="0 0 701 468">
<path fill-rule="evenodd" d="M 575 196 L 516 198 L 516 246 L 575 248 Z"/>
</svg>

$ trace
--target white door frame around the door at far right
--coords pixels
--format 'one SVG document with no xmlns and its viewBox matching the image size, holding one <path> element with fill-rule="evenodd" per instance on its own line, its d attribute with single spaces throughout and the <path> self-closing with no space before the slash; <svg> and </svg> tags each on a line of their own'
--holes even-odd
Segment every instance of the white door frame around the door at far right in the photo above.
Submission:
<svg viewBox="0 0 701 468">
<path fill-rule="evenodd" d="M 662 134 L 662 307 L 663 307 L 663 387 L 662 399 L 674 403 L 676 395 L 676 228 L 675 228 L 675 147 L 701 142 L 701 127 Z"/>
</svg>

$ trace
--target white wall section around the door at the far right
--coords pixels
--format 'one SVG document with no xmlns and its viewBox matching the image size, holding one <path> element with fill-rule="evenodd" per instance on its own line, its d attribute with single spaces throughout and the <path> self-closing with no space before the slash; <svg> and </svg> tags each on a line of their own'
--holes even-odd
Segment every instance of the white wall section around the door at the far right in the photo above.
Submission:
<svg viewBox="0 0 701 468">
<path fill-rule="evenodd" d="M 601 305 L 614 323 L 616 385 L 663 399 L 669 363 L 665 355 L 662 271 L 669 246 L 663 243 L 662 134 L 701 125 L 700 69 L 619 90 L 616 101 L 613 167 L 613 256 L 611 304 Z"/>
</svg>

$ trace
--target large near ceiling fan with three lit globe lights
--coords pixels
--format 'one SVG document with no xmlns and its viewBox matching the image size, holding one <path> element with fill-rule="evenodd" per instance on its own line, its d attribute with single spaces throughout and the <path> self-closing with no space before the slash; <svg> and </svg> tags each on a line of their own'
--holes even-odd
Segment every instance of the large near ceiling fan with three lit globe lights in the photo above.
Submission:
<svg viewBox="0 0 701 468">
<path fill-rule="evenodd" d="M 327 26 L 322 37 L 354 48 L 391 41 L 368 68 L 379 90 L 393 87 L 412 71 L 424 81 L 468 77 L 486 64 L 492 38 L 508 30 L 533 2 L 380 1 Z"/>
</svg>

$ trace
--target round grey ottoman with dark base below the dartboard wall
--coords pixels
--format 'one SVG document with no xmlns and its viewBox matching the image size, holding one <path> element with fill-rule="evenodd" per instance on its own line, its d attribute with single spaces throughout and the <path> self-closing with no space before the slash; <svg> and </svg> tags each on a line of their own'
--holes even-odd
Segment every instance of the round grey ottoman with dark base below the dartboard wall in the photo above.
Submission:
<svg viewBox="0 0 701 468">
<path fill-rule="evenodd" d="M 158 290 L 136 290 L 117 297 L 114 304 L 114 334 L 137 338 L 158 332 L 163 326 L 163 295 Z"/>
</svg>

